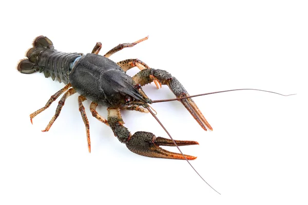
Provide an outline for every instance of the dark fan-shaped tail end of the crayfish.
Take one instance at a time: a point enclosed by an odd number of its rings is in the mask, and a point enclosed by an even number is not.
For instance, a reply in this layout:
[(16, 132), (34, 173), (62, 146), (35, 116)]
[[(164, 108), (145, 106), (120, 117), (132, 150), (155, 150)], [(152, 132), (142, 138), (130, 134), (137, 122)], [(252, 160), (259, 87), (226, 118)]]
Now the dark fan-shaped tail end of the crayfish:
[(17, 66), (17, 70), (21, 73), (34, 73), (40, 70), (37, 66), (40, 53), (45, 49), (53, 50), (53, 44), (51, 40), (45, 36), (37, 36), (33, 41), (33, 48), (30, 48), (26, 54), (28, 59), (23, 59)]

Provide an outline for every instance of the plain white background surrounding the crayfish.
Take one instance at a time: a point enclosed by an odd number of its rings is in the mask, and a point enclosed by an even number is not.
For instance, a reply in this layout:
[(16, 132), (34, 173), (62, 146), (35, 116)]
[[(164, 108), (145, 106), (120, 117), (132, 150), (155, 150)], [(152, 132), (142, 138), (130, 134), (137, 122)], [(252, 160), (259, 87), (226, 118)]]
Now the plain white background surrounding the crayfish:
[[(129, 2), (129, 3), (128, 3)], [(248, 3), (249, 2), (249, 3)], [(307, 204), (307, 65), (305, 1), (42, 1), (1, 6), (1, 204)], [(177, 101), (153, 105), (175, 139), (198, 156), (181, 160), (139, 156), (89, 112), (91, 148), (78, 111), (68, 98), (50, 131), (57, 103), (33, 119), (63, 84), (15, 67), (32, 40), (49, 37), (55, 49), (101, 54), (149, 35), (111, 59), (139, 58), (176, 76), (189, 94), (237, 88), (195, 98), (213, 127), (203, 131)], [(132, 69), (133, 75), (138, 69)], [(152, 99), (172, 98), (148, 85)], [(107, 117), (106, 108), (98, 112)], [(134, 133), (167, 137), (150, 114), (123, 111)], [(175, 149), (169, 149), (174, 150)]]

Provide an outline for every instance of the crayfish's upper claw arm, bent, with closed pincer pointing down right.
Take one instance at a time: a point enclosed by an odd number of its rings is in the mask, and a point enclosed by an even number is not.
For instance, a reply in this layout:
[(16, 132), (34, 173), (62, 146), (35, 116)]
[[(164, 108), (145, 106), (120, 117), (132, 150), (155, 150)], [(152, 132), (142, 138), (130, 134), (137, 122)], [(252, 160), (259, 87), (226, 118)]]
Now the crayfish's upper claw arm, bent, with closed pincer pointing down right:
[[(132, 77), (136, 84), (140, 84), (144, 86), (146, 84), (151, 83), (154, 79), (160, 81), (161, 84), (167, 85), (170, 90), (179, 97), (186, 97), (189, 96), (188, 92), (179, 82), (179, 80), (167, 71), (160, 70), (160, 69), (145, 69), (137, 73)], [(185, 106), (185, 108), (189, 111), (192, 117), (199, 123), (199, 125), (206, 131), (206, 127), (210, 130), (213, 130), (197, 105), (195, 104), (194, 100), (191, 98), (187, 99), (180, 99), (181, 103)]]

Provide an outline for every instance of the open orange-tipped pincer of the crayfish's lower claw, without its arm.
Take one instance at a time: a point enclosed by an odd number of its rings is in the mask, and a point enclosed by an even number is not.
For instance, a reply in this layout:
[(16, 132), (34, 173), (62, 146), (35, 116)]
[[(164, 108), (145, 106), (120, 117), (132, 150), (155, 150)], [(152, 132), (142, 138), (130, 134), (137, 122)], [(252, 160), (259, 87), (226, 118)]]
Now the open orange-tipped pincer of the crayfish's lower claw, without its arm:
[[(175, 140), (178, 146), (199, 145), (197, 141)], [(169, 152), (159, 146), (176, 146), (171, 139), (156, 137), (150, 132), (136, 132), (126, 142), (126, 147), (133, 153), (147, 156), (168, 159), (185, 159), (180, 153)], [(195, 156), (185, 154), (186, 159), (196, 159)]]

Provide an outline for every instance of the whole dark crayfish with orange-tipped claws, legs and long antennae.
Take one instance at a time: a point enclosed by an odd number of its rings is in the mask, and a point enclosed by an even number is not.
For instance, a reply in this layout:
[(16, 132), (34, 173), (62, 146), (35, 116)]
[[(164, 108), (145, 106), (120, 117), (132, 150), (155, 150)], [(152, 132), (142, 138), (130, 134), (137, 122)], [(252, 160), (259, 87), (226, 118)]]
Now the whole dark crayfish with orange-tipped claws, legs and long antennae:
[[(30, 48), (26, 54), (27, 59), (20, 61), (17, 66), (17, 70), (26, 74), (40, 71), (44, 73), (45, 77), (51, 76), (53, 80), (57, 79), (60, 83), (63, 81), (66, 86), (52, 95), (43, 108), (30, 114), (31, 123), (32, 119), (37, 114), (46, 110), (53, 101), (55, 101), (60, 95), (64, 93), (64, 95), (59, 100), (59, 105), (56, 108), (54, 116), (50, 120), (45, 130), (43, 130), (43, 132), (47, 132), (55, 119), (60, 115), (65, 100), (69, 96), (75, 93), (79, 93), (79, 111), (86, 127), (89, 152), (91, 152), (89, 122), (85, 113), (85, 108), (82, 104), (82, 102), (86, 99), (92, 100), (92, 103), (90, 104), (90, 111), (93, 117), (109, 126), (119, 141), (124, 143), (131, 152), (148, 157), (186, 159), (188, 163), (188, 160), (196, 159), (197, 157), (195, 156), (183, 154), (178, 146), (198, 145), (198, 142), (174, 140), (168, 131), (164, 128), (164, 126), (160, 123), (155, 114), (153, 114), (149, 106), (149, 104), (158, 103), (160, 101), (179, 100), (205, 131), (207, 128), (213, 130), (197, 105), (191, 99), (191, 97), (194, 96), (189, 96), (177, 78), (171, 76), (171, 74), (169, 74), (167, 71), (152, 69), (139, 59), (126, 59), (115, 63), (108, 58), (123, 48), (133, 47), (134, 45), (143, 42), (147, 38), (148, 37), (142, 38), (134, 43), (120, 44), (102, 56), (99, 55), (99, 52), (102, 48), (101, 43), (97, 43), (94, 46), (92, 52), (88, 54), (64, 53), (55, 50), (51, 40), (47, 37), (36, 37), (33, 42), (33, 48)], [(141, 71), (133, 77), (130, 77), (126, 74), (126, 71), (133, 67), (138, 67)], [(161, 87), (162, 85), (167, 85), (177, 98), (168, 100), (149, 99), (143, 92), (142, 86), (151, 82), (154, 82), (157, 88)], [(195, 96), (206, 94), (199, 94)], [(96, 111), (98, 105), (108, 107), (107, 119), (102, 117)], [(128, 129), (124, 127), (124, 121), (120, 112), (121, 110), (150, 112), (169, 135), (170, 139), (156, 137), (154, 134), (144, 131), (131, 134)], [(160, 146), (176, 146), (180, 153), (164, 150), (160, 148)]]

